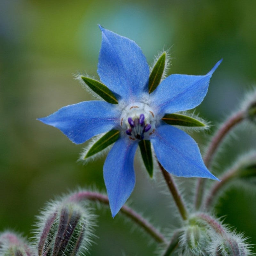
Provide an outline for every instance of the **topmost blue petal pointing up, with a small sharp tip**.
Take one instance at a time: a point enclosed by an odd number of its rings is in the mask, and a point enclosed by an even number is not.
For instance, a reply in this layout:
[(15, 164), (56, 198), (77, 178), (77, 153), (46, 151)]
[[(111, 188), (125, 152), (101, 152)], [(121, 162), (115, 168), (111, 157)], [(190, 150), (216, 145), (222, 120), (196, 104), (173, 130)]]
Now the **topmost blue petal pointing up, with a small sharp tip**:
[(99, 27), (102, 44), (97, 71), (101, 82), (123, 99), (138, 99), (149, 77), (144, 54), (134, 41)]

